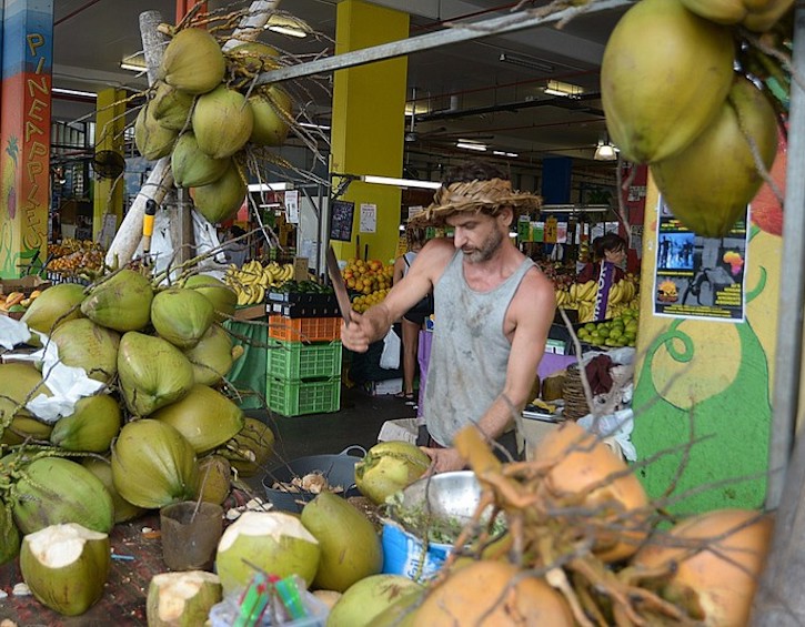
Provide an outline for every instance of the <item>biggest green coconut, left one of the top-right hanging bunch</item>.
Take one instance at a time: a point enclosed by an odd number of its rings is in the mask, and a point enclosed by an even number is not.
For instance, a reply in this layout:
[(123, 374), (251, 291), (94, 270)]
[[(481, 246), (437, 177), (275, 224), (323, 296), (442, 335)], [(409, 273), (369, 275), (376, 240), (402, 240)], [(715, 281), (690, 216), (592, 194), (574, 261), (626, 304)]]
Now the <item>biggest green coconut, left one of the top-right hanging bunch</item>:
[(642, 0), (610, 37), (601, 67), (606, 128), (628, 161), (680, 152), (718, 114), (733, 78), (728, 28), (678, 0)]

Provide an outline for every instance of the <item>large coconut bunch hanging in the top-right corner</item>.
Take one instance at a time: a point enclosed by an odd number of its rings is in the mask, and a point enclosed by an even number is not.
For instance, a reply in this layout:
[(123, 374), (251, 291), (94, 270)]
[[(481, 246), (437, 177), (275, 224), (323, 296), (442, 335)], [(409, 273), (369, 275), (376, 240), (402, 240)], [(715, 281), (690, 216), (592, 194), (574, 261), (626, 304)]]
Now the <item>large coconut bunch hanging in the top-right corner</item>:
[(767, 181), (789, 93), (793, 0), (641, 0), (601, 68), (607, 131), (673, 214), (725, 235)]

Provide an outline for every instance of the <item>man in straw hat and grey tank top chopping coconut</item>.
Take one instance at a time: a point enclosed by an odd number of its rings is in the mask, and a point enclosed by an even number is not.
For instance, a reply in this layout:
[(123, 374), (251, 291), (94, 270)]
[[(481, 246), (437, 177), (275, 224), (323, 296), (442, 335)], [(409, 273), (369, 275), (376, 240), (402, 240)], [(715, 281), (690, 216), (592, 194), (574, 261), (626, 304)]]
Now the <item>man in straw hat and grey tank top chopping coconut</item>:
[[(492, 439), (527, 403), (555, 310), (553, 284), (509, 237), (520, 209), (540, 199), (512, 191), (496, 168), (470, 163), (447, 174), (422, 221), (446, 224), (453, 240), (430, 241), (385, 300), (342, 326), (358, 352), (431, 290), (435, 332), (424, 417), (434, 472), (463, 467), (453, 436), (474, 423)], [(419, 218), (419, 216), (417, 216)]]

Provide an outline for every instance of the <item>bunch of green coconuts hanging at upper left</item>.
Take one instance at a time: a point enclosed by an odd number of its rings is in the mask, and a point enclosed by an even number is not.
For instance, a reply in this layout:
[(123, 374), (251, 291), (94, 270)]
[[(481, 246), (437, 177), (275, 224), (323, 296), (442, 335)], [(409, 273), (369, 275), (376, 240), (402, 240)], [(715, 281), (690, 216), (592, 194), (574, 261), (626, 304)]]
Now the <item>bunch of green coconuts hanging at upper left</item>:
[(177, 186), (213, 223), (243, 203), (248, 155), (282, 145), (295, 123), (290, 94), (256, 82), (282, 65), (279, 50), (242, 41), (224, 51), (232, 22), (195, 11), (160, 27), (171, 40), (134, 124), (138, 150), (150, 160), (170, 156)]

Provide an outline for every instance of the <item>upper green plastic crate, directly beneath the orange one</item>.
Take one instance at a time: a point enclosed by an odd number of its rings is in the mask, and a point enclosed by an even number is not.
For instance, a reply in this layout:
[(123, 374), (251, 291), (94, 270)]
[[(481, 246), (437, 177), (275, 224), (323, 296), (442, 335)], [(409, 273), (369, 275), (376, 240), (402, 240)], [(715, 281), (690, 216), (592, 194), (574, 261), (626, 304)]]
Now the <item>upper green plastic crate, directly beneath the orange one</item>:
[(341, 342), (321, 344), (276, 342), (268, 351), (270, 377), (288, 380), (331, 378), (341, 375)]

